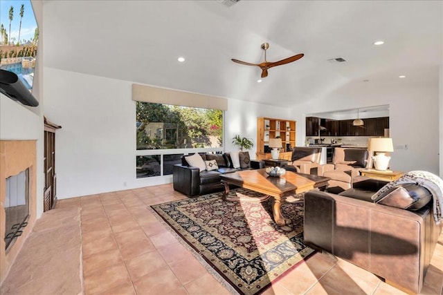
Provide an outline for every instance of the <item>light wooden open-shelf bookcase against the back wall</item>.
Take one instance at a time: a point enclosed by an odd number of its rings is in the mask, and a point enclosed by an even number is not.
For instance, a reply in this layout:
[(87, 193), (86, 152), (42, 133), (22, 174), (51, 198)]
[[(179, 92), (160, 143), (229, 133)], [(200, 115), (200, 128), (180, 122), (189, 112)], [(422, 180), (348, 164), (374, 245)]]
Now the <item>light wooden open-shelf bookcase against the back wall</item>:
[(273, 119), (269, 117), (257, 118), (256, 160), (271, 158), (269, 139), (276, 138), (278, 136), (280, 136), (282, 139), (280, 159), (291, 160), (292, 148), (293, 146), (296, 146), (296, 121)]

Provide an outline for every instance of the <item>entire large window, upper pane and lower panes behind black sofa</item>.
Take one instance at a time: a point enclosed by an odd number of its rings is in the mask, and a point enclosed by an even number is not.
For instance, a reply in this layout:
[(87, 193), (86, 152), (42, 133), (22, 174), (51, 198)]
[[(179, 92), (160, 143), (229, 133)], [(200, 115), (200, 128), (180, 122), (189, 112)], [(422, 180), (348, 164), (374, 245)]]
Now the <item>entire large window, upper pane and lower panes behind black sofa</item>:
[(182, 149), (221, 151), (223, 111), (136, 102), (136, 146), (137, 178), (172, 174)]

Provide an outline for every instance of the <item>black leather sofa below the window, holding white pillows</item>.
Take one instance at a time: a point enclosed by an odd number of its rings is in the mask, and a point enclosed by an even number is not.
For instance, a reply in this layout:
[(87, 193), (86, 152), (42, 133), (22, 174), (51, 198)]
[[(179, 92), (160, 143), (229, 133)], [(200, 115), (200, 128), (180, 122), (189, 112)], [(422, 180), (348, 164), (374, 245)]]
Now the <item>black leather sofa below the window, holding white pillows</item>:
[(181, 164), (175, 164), (172, 167), (172, 184), (175, 191), (180, 191), (190, 197), (223, 191), (224, 186), (221, 184), (220, 174), (233, 173), (245, 169), (264, 168), (263, 161), (250, 160), (248, 152), (240, 152), (239, 168), (233, 167), (233, 161), (230, 153), (224, 154), (200, 154), (203, 160), (215, 160), (218, 169), (200, 171), (197, 166), (190, 166), (186, 161), (186, 156), (181, 157)]

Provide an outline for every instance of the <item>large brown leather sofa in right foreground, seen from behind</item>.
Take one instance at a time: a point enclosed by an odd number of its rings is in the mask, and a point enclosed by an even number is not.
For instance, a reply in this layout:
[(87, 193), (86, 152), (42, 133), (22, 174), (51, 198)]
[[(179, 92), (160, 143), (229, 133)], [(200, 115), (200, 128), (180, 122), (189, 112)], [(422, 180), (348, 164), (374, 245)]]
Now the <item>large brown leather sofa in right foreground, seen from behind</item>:
[(401, 209), (371, 199), (386, 182), (357, 180), (352, 189), (338, 195), (322, 191), (305, 194), (305, 243), (406, 292), (419, 293), (442, 232), (442, 224), (436, 225), (433, 218), (433, 196), (415, 184), (407, 189), (421, 204)]

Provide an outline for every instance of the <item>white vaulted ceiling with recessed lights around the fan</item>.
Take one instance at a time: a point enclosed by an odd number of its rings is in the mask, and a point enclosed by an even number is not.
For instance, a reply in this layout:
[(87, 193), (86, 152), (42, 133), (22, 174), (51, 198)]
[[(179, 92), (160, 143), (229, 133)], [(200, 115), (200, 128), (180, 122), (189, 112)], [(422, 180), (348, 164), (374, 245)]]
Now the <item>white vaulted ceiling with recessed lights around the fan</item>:
[[(45, 66), (275, 106), (365, 79), (437, 80), (443, 59), (443, 1), (60, 0), (43, 15)], [(260, 68), (230, 59), (259, 63), (264, 42), (268, 61), (305, 57), (257, 83)]]

